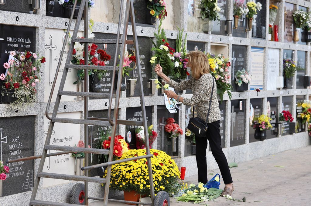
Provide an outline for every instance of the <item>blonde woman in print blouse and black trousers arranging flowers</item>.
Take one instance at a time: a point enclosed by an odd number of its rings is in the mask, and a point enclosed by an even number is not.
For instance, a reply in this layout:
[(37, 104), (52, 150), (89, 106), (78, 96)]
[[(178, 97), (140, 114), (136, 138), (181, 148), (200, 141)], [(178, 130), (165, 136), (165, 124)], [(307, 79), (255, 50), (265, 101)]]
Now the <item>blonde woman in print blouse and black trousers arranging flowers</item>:
[(191, 99), (183, 98), (175, 94), (173, 91), (165, 90), (165, 94), (169, 98), (174, 98), (184, 105), (197, 106), (197, 116), (203, 121), (207, 118), (208, 106), (211, 94), (211, 108), (209, 110), (210, 115), (207, 120), (208, 132), (205, 138), (196, 137), (196, 160), (198, 168), (199, 182), (207, 182), (207, 163), (206, 163), (206, 149), (207, 149), (207, 139), (211, 146), (212, 154), (219, 166), (221, 175), (225, 182), (225, 189), (222, 192), (222, 196), (231, 195), (234, 187), (232, 184), (232, 178), (230, 174), (230, 169), (228, 166), (225, 154), (220, 146), (220, 110), (217, 99), (216, 87), (212, 91), (213, 81), (215, 79), (210, 74), (209, 64), (207, 56), (202, 51), (190, 51), (187, 54), (188, 57), (188, 67), (191, 68), (191, 74), (193, 78), (177, 83), (171, 80), (162, 72), (162, 67), (157, 64), (155, 67), (155, 72), (158, 76), (162, 77), (166, 82), (169, 82), (176, 90), (186, 90), (191, 89), (193, 91), (193, 96)]

